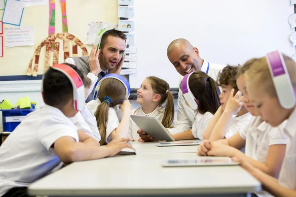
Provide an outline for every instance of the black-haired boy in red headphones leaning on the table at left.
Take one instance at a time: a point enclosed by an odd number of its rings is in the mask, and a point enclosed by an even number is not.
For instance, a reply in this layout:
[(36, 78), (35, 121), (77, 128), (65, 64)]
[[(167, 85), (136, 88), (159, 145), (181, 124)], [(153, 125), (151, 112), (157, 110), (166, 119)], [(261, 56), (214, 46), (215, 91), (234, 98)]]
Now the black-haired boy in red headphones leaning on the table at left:
[(71, 65), (54, 65), (43, 74), (44, 107), (30, 113), (0, 146), (0, 196), (26, 196), (29, 184), (61, 162), (99, 159), (132, 148), (126, 143), (130, 138), (101, 147), (71, 122), (84, 104), (81, 79), (81, 72)]

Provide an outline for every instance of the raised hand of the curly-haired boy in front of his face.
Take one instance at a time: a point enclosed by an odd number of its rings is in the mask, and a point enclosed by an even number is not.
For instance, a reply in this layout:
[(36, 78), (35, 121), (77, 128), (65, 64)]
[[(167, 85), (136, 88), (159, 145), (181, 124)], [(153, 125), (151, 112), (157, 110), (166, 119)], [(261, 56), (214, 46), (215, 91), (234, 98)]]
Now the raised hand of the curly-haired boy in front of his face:
[(241, 96), (242, 93), (238, 91), (235, 96), (233, 97), (234, 89), (231, 90), (230, 97), (226, 103), (225, 110), (229, 113), (236, 114), (239, 112), (241, 107), (243, 106), (243, 97)]

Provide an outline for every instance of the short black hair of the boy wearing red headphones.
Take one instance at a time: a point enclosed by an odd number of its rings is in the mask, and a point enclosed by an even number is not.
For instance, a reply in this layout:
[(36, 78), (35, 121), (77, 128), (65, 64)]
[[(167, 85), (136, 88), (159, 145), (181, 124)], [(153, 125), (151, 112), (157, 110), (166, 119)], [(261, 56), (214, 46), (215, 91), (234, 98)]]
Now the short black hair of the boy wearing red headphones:
[[(72, 67), (84, 80), (82, 72), (74, 65), (65, 65)], [(62, 108), (73, 98), (73, 86), (68, 77), (61, 71), (49, 67), (43, 74), (43, 98), (44, 103), (56, 108)]]

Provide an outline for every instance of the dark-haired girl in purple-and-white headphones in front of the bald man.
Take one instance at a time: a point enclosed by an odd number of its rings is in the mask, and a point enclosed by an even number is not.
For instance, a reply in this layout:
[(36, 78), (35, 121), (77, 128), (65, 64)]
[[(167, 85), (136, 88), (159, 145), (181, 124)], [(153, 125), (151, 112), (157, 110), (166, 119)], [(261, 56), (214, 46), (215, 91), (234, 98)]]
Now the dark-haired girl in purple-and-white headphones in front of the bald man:
[(202, 138), (211, 118), (218, 110), (220, 90), (217, 82), (202, 71), (185, 75), (181, 87), (185, 103), (194, 112), (192, 129), (173, 134), (175, 140)]

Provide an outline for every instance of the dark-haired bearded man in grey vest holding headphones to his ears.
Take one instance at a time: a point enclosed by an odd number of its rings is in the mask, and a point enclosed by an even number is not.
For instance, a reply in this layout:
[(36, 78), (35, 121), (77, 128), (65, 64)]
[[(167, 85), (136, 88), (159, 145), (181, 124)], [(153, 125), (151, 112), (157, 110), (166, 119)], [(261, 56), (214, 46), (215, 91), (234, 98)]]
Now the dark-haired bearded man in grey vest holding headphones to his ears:
[(100, 50), (94, 46), (89, 56), (67, 58), (65, 63), (77, 66), (92, 80), (86, 102), (93, 99), (95, 84), (108, 73), (119, 74), (123, 65), (126, 35), (118, 30), (109, 30), (102, 35)]

